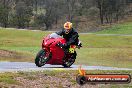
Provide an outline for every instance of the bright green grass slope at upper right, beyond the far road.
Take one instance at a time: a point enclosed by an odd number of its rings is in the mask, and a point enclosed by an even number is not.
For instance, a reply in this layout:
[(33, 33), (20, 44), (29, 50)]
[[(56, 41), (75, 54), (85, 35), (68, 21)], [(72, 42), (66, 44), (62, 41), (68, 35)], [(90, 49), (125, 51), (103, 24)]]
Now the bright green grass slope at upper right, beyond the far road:
[(97, 33), (101, 34), (132, 34), (132, 22), (116, 24)]

